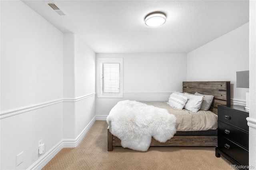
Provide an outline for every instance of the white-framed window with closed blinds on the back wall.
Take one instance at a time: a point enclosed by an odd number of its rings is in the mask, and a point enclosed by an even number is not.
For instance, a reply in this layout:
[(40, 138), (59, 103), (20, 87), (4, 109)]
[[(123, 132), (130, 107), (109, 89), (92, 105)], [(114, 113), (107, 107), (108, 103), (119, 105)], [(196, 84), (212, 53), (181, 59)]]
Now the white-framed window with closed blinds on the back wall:
[(123, 97), (122, 58), (98, 58), (98, 97)]

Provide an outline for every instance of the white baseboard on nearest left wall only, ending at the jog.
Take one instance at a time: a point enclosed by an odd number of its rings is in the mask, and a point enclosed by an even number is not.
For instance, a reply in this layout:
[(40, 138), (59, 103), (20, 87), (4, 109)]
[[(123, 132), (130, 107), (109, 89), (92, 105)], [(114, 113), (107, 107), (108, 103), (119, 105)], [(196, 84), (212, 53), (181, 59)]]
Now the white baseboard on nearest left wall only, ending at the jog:
[(60, 150), (63, 148), (63, 141), (60, 140), (53, 148), (43, 154), (34, 164), (27, 170), (40, 170), (42, 169)]

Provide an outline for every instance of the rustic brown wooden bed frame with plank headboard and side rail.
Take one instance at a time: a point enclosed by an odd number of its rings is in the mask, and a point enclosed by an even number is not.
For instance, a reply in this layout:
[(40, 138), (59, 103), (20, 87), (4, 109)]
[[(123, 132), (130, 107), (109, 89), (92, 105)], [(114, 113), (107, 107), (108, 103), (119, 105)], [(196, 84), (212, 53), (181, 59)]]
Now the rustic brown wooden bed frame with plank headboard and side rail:
[[(230, 81), (184, 81), (183, 92), (213, 95), (210, 111), (218, 115), (218, 105), (230, 105)], [(108, 127), (108, 151), (113, 146), (121, 146), (121, 140), (112, 135)], [(174, 136), (166, 142), (158, 142), (152, 137), (150, 146), (217, 146), (218, 136)]]

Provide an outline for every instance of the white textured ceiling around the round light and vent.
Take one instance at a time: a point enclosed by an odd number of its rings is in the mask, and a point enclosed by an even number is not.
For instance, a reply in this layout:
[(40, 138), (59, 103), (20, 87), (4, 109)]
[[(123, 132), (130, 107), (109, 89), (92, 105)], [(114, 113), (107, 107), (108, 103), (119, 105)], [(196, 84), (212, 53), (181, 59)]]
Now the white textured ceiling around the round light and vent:
[[(56, 0), (68, 16), (58, 16), (49, 1), (23, 2), (96, 53), (188, 53), (249, 22), (248, 0)], [(156, 11), (166, 23), (149, 28), (144, 18)]]

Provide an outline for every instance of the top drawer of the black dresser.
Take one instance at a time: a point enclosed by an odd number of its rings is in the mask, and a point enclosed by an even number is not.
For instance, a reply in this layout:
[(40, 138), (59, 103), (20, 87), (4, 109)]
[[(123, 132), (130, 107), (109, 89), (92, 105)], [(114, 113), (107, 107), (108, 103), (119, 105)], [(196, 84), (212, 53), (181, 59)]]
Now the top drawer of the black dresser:
[(218, 109), (218, 121), (222, 121), (224, 123), (228, 123), (230, 125), (234, 125), (238, 128), (242, 128), (246, 131), (249, 131), (246, 117), (248, 116), (236, 113), (234, 111), (229, 111), (221, 108)]

